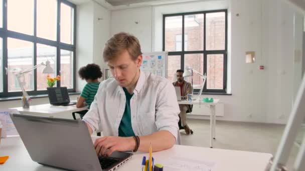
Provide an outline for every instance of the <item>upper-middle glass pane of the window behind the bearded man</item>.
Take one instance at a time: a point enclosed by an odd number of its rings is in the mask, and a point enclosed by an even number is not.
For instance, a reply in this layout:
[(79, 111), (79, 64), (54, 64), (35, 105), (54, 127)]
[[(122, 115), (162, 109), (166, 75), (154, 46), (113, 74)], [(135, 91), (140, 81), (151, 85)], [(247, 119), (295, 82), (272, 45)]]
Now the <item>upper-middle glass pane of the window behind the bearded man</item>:
[(184, 50), (203, 50), (204, 14), (184, 16)]

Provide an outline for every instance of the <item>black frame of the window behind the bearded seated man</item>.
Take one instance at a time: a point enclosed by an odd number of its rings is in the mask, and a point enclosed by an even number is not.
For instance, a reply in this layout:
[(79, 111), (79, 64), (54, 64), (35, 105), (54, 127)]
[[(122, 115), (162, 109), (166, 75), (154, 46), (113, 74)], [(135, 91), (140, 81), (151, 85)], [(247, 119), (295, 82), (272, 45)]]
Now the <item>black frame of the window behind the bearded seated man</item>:
[[(206, 14), (213, 12), (225, 12), (225, 49), (224, 50), (206, 50)], [(203, 50), (188, 50), (184, 51), (184, 29), (185, 29), (185, 15), (190, 14), (204, 14), (204, 47)], [(207, 89), (207, 83), (204, 85), (203, 93), (227, 93), (227, 51), (228, 51), (228, 10), (219, 9), (219, 10), (205, 10), (205, 11), (196, 11), (196, 12), (183, 12), (183, 13), (172, 13), (172, 14), (163, 14), (163, 51), (165, 51), (165, 19), (169, 16), (182, 16), (182, 51), (169, 51), (168, 55), (180, 55), (181, 56), (181, 69), (184, 69), (184, 56), (185, 54), (203, 54), (203, 73), (207, 73), (207, 56), (209, 54), (223, 54), (223, 89)], [(194, 93), (199, 93), (199, 88), (194, 89)]]

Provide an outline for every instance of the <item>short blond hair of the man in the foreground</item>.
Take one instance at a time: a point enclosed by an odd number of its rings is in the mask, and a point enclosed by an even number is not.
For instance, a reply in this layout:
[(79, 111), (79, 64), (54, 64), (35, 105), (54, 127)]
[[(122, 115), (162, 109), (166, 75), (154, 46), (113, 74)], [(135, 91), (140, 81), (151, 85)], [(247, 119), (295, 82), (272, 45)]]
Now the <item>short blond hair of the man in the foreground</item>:
[(126, 32), (114, 34), (106, 43), (103, 51), (104, 61), (118, 57), (127, 50), (132, 60), (136, 60), (142, 54), (139, 40)]

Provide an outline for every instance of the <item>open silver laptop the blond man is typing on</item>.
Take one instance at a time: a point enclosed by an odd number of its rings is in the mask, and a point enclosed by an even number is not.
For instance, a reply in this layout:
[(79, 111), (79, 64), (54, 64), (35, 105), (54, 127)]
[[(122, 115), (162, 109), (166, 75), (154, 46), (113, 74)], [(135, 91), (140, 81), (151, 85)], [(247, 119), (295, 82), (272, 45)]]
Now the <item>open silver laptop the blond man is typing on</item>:
[(88, 128), (82, 120), (11, 114), (31, 158), (40, 164), (68, 170), (115, 170), (132, 153), (96, 155)]

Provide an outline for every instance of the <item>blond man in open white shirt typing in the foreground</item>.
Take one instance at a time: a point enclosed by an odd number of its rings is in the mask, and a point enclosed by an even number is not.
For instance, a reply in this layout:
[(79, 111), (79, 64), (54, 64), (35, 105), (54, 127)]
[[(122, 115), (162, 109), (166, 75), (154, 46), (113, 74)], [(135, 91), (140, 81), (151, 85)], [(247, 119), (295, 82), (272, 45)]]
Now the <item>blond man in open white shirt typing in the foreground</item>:
[(179, 105), (168, 79), (145, 74), (139, 41), (120, 32), (105, 44), (104, 61), (113, 79), (100, 83), (90, 110), (83, 120), (90, 134), (103, 131), (95, 150), (98, 155), (113, 151), (147, 152), (171, 148), (178, 137)]

